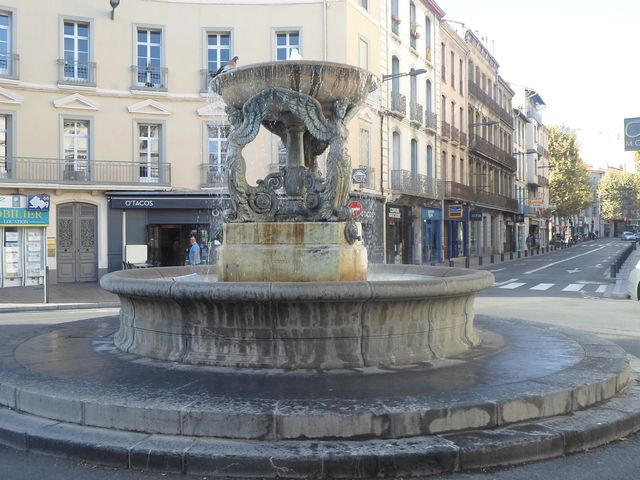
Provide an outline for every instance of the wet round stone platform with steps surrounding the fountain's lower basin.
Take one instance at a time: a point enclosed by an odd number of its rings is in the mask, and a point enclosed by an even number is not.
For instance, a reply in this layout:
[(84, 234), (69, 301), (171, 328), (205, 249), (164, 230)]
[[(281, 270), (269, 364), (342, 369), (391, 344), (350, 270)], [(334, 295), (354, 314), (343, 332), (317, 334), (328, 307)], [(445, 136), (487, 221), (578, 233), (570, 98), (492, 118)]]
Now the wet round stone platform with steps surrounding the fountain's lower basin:
[(484, 346), (466, 355), (326, 375), (122, 354), (114, 317), (2, 327), (0, 441), (214, 477), (370, 478), (549, 458), (640, 428), (636, 361), (619, 347), (477, 320)]

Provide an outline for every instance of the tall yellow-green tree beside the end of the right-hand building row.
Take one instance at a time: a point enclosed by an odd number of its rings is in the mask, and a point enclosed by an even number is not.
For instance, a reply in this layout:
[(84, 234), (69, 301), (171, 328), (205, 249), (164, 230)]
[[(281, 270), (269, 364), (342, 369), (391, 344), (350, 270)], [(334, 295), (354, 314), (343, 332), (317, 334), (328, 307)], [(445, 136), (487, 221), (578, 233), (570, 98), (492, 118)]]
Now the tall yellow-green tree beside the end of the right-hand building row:
[(549, 195), (559, 216), (577, 215), (592, 203), (589, 171), (580, 158), (576, 133), (570, 128), (549, 128), (549, 167)]

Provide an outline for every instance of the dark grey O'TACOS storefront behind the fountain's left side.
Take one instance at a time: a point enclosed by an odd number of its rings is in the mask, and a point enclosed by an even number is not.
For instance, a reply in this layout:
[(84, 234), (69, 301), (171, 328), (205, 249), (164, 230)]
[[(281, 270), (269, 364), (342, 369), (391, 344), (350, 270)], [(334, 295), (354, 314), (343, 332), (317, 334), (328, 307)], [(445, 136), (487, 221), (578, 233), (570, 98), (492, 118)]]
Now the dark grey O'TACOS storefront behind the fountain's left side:
[(228, 197), (201, 193), (109, 192), (109, 271), (120, 270), (131, 262), (127, 246), (146, 245), (142, 263), (152, 266), (184, 265), (191, 236), (201, 248), (205, 263), (215, 263), (222, 241)]

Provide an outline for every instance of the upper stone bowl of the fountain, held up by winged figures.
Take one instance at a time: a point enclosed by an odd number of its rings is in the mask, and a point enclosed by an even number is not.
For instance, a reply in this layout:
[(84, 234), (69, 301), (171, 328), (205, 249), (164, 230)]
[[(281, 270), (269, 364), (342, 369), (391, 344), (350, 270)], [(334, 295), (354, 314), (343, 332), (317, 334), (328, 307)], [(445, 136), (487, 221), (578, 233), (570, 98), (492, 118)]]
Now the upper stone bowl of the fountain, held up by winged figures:
[(352, 65), (317, 61), (256, 63), (218, 75), (211, 82), (227, 105), (242, 108), (255, 94), (271, 87), (309, 95), (322, 105), (345, 98), (359, 105), (379, 86), (371, 72)]

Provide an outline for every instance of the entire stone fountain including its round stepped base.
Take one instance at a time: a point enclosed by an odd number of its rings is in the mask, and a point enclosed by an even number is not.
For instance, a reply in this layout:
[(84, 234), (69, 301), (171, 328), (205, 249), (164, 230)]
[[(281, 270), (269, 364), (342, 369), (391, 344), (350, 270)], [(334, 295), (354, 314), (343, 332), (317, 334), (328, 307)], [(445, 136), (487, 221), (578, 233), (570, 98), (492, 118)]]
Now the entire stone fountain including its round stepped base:
[[(234, 208), (218, 265), (104, 276), (119, 318), (0, 326), (0, 443), (214, 478), (366, 479), (640, 429), (621, 348), (513, 319), (476, 329), (488, 272), (367, 265), (345, 206), (346, 125), (376, 86), (322, 62), (219, 75)], [(261, 126), (287, 165), (249, 185), (242, 150)]]

